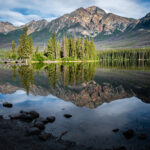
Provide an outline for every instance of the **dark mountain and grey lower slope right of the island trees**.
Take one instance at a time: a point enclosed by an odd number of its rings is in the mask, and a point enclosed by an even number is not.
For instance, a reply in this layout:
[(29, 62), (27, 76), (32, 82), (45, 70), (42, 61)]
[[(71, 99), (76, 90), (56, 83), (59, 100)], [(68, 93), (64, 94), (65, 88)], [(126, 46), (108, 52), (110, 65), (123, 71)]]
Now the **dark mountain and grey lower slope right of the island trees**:
[(139, 48), (150, 46), (150, 13), (127, 26), (122, 33), (102, 35), (96, 39), (97, 49)]

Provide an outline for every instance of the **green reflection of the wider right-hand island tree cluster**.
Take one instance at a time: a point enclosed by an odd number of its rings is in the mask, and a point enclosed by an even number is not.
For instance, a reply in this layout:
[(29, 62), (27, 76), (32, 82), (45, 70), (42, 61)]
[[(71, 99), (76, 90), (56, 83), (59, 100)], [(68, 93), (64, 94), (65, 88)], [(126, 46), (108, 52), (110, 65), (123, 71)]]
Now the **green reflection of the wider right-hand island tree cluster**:
[[(76, 85), (93, 80), (96, 65), (93, 63), (58, 65), (50, 64), (45, 68), (50, 84), (56, 88), (57, 80), (62, 79), (64, 86)], [(60, 73), (61, 71), (61, 73)]]

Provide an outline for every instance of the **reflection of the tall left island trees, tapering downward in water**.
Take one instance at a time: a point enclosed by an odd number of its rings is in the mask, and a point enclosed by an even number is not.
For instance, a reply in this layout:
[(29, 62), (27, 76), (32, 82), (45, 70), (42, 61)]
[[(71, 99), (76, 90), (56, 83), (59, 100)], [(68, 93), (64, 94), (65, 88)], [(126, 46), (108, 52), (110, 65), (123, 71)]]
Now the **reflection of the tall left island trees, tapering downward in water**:
[(20, 66), (18, 73), (21, 79), (22, 87), (26, 89), (27, 94), (29, 94), (30, 86), (34, 82), (34, 70), (32, 65)]

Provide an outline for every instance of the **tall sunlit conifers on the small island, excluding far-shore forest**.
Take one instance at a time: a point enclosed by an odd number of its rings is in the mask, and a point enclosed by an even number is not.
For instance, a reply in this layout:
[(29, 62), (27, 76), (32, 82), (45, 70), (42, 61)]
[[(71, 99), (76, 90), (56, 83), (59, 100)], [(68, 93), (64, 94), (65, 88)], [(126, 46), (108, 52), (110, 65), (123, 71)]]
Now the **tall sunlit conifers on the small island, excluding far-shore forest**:
[[(39, 46), (34, 48), (31, 36), (27, 35), (27, 27), (24, 28), (24, 34), (20, 36), (19, 45), (16, 48), (15, 41), (11, 45), (11, 57), (21, 59), (39, 59), (39, 60), (81, 60), (96, 59), (96, 49), (93, 39), (63, 36), (61, 41), (56, 39), (55, 33), (48, 40), (44, 52), (39, 51)], [(35, 50), (34, 50), (35, 49)]]

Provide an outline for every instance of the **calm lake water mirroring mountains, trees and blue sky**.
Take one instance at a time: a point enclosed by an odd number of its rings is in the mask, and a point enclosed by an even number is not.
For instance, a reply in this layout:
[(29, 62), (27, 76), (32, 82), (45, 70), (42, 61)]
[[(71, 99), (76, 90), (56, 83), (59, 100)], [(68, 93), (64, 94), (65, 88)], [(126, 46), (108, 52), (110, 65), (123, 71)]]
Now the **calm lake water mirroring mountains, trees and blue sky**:
[[(11, 102), (11, 109), (3, 102)], [(56, 121), (45, 131), (94, 148), (150, 147), (150, 65), (82, 63), (0, 65), (0, 115), (36, 110)], [(64, 118), (64, 114), (72, 118)], [(118, 133), (112, 132), (119, 128)], [(126, 140), (123, 132), (133, 129)], [(137, 137), (144, 133), (146, 140)]]

